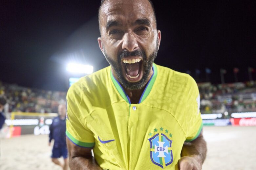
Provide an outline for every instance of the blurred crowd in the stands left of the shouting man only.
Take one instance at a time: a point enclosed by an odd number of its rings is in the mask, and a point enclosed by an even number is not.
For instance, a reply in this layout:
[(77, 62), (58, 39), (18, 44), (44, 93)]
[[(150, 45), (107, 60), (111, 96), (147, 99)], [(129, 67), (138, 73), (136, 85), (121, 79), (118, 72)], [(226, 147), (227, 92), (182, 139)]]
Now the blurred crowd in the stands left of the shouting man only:
[(65, 103), (66, 92), (54, 92), (21, 87), (0, 81), (0, 95), (7, 99), (4, 112), (57, 113), (58, 105)]

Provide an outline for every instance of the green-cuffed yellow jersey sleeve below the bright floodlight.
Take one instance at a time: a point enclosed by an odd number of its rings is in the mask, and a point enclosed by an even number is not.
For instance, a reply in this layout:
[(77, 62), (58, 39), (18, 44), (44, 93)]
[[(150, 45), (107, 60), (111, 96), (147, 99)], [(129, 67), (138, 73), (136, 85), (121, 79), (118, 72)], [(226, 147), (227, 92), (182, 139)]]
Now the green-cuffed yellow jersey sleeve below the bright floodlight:
[[(72, 87), (73, 86), (73, 87)], [(92, 148), (95, 144), (93, 132), (86, 126), (85, 116), (88, 115), (86, 106), (81, 105), (83, 97), (79, 88), (73, 84), (67, 93), (66, 136), (75, 145)]]

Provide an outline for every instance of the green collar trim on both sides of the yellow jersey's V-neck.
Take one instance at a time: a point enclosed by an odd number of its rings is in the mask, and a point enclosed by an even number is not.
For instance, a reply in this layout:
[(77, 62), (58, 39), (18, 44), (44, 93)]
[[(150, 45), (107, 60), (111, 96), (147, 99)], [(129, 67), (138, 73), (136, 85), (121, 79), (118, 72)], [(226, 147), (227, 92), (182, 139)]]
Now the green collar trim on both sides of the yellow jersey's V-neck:
[[(111, 76), (111, 80), (112, 82), (114, 83), (118, 93), (121, 95), (121, 97), (129, 104), (131, 104), (131, 101), (130, 101), (130, 98), (128, 97), (128, 95), (125, 93), (123, 87), (120, 85), (120, 83), (117, 81), (117, 79), (113, 76), (113, 73), (112, 71), (110, 71), (110, 76)], [(144, 89), (140, 99), (139, 99), (139, 103), (143, 102), (146, 97), (148, 96), (148, 94), (150, 93), (153, 85), (154, 85), (154, 82), (157, 78), (157, 66), (155, 63), (153, 63), (153, 75), (150, 77), (147, 85), (146, 85), (146, 88)]]

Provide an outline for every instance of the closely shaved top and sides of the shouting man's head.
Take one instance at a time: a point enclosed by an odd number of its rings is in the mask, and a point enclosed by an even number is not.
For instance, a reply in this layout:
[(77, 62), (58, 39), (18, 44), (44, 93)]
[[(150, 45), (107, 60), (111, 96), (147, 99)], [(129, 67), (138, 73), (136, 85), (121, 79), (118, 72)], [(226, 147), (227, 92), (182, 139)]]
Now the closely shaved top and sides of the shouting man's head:
[[(110, 2), (110, 4), (107, 4), (105, 6), (105, 4), (107, 2)], [(121, 4), (123, 4), (123, 6), (121, 6)], [(132, 7), (133, 9), (137, 9), (138, 12), (139, 10), (141, 11), (145, 11), (145, 10), (149, 10), (151, 12), (151, 14), (153, 14), (153, 20), (155, 22), (155, 28), (157, 29), (157, 20), (156, 20), (156, 14), (155, 14), (155, 10), (154, 10), (154, 6), (151, 0), (101, 0), (101, 4), (98, 10), (98, 22), (99, 22), (99, 31), (101, 34), (101, 22), (102, 22), (102, 12), (107, 12), (109, 10), (109, 7), (113, 7), (114, 6), (120, 6), (120, 8), (122, 7)]]

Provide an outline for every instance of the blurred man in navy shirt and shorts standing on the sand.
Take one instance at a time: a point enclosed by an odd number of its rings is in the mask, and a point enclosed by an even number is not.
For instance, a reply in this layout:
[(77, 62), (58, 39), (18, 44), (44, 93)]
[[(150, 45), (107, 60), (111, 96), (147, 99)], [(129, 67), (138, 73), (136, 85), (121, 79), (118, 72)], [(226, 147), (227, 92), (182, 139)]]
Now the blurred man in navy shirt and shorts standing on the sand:
[[(54, 139), (53, 150), (52, 150), (52, 161), (56, 165), (59, 165), (63, 170), (68, 170), (68, 150), (66, 144), (66, 105), (61, 104), (58, 106), (59, 116), (53, 119), (53, 123), (50, 126), (49, 134), (49, 146), (51, 141)], [(60, 163), (58, 158), (63, 157), (64, 164)]]

